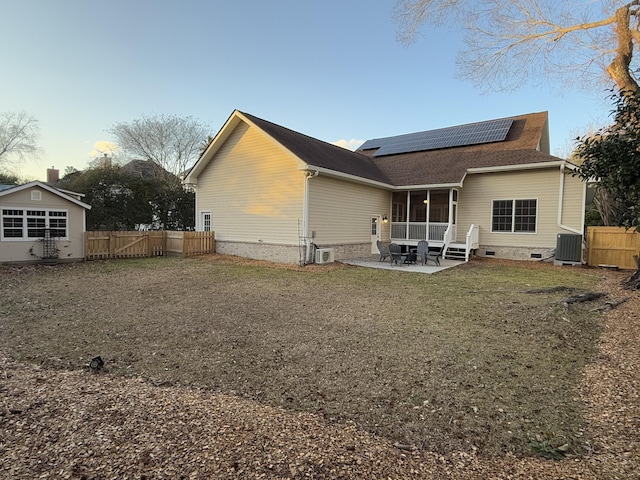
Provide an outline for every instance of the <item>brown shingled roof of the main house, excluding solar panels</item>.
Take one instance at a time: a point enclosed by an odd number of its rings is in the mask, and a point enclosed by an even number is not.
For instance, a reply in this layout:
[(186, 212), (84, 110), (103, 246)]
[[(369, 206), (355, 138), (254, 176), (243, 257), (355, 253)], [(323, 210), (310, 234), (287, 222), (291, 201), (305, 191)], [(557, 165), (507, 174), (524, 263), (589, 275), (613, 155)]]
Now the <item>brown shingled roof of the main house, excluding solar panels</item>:
[[(526, 169), (552, 166), (565, 161), (549, 154), (547, 112), (530, 113), (506, 119), (497, 119), (460, 127), (449, 127), (418, 134), (398, 135), (365, 142), (357, 151), (317, 140), (248, 113), (234, 110), (207, 150), (191, 169), (185, 183), (195, 183), (198, 175), (215, 156), (215, 152), (235, 127), (245, 122), (261, 130), (270, 139), (307, 165), (307, 169), (320, 169), (323, 174), (356, 177), (389, 188), (411, 186), (455, 186), (469, 172), (483, 169)], [(477, 136), (467, 143), (446, 143), (445, 147), (421, 149), (396, 148), (398, 143), (437, 137), (438, 132), (470, 132), (475, 125), (496, 126), (498, 134), (480, 143)], [(487, 127), (488, 128), (488, 127)], [(435, 133), (434, 133), (435, 132)], [(420, 140), (421, 141), (421, 140)], [(394, 148), (384, 148), (389, 143)], [(419, 144), (421, 145), (421, 144)], [(438, 144), (441, 145), (441, 144)], [(451, 146), (452, 145), (452, 146)], [(391, 153), (389, 153), (391, 152)], [(398, 153), (402, 152), (402, 153)]]

